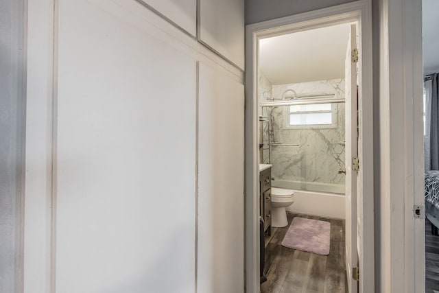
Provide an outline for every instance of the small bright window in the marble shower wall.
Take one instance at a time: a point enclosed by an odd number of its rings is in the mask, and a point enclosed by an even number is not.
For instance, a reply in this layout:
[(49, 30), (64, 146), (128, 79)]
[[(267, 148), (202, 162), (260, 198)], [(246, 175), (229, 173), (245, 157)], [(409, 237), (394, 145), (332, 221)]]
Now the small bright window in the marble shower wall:
[(289, 106), (287, 126), (335, 126), (332, 104)]

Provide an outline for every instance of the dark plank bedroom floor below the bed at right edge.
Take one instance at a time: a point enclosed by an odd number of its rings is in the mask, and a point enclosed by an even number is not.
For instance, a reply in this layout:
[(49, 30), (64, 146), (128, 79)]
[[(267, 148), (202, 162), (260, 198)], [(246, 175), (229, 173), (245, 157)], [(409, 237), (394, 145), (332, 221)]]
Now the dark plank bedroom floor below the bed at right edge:
[(439, 236), (431, 234), (431, 223), (425, 220), (425, 293), (439, 291)]

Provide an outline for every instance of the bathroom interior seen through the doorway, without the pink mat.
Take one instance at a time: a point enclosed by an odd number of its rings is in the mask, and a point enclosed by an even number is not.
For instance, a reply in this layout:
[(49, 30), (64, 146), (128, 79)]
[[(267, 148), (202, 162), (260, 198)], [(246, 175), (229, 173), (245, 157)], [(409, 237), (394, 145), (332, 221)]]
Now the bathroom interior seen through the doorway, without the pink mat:
[[(344, 23), (259, 41), (261, 292), (348, 292), (345, 58), (350, 27)], [(331, 223), (329, 255), (283, 247), (296, 217)]]

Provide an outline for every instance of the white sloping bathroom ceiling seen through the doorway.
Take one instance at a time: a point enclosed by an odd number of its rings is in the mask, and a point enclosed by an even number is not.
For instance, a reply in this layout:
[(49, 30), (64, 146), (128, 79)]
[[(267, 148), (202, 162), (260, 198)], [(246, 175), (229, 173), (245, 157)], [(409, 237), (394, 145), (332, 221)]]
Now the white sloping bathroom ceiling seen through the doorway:
[(349, 24), (265, 38), (259, 69), (272, 84), (344, 78)]

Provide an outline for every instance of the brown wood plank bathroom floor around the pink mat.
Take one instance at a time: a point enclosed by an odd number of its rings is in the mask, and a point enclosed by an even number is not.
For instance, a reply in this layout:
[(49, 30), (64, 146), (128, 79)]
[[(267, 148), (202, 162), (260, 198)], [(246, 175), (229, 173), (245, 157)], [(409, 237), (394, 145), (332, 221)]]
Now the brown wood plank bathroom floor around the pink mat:
[[(281, 246), (294, 217), (331, 222), (329, 255), (305, 253)], [(261, 293), (345, 293), (347, 292), (344, 264), (344, 221), (329, 220), (309, 215), (287, 213), (288, 225), (272, 231), (265, 246), (265, 275)], [(266, 236), (267, 237), (267, 236)]]

